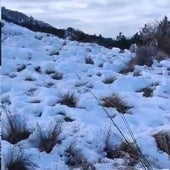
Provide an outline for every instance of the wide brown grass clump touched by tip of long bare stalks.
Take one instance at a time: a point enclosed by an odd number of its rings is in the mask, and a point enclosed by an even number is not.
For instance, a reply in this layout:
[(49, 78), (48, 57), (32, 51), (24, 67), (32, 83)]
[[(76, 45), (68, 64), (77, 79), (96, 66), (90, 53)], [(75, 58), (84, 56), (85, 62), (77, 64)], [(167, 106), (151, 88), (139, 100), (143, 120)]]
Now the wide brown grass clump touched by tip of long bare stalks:
[(120, 113), (126, 113), (130, 106), (127, 105), (117, 94), (112, 94), (111, 96), (104, 97), (101, 99), (101, 105), (104, 107), (113, 107)]

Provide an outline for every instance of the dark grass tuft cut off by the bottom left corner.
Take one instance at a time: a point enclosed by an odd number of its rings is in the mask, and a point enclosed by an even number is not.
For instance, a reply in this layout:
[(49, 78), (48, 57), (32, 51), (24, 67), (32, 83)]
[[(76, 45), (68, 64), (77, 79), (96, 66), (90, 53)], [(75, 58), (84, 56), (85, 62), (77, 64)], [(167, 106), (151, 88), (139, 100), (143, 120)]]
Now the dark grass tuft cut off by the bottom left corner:
[(34, 170), (35, 164), (30, 160), (30, 156), (21, 150), (10, 148), (4, 155), (2, 162), (7, 170)]

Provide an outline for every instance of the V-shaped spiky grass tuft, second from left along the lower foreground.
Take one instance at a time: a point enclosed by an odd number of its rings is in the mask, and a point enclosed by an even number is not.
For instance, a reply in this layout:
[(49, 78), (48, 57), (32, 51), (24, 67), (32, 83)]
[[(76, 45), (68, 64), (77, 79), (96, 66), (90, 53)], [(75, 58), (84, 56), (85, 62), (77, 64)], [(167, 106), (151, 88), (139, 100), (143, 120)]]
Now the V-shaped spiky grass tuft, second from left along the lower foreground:
[(36, 135), (37, 135), (37, 147), (40, 152), (45, 151), (50, 153), (53, 147), (59, 143), (58, 136), (61, 133), (61, 122), (56, 122), (53, 126), (49, 127), (48, 131), (42, 130), (42, 128), (37, 125)]

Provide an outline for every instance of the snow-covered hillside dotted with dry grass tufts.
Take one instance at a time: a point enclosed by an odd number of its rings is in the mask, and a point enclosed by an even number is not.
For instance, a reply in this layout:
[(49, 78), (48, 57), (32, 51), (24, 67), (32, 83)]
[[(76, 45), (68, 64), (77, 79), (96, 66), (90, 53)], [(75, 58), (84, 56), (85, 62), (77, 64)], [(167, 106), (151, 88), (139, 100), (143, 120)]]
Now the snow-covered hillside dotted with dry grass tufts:
[[(155, 60), (152, 67), (135, 66), (134, 72), (121, 74), (134, 57), (128, 50), (122, 53), (3, 23), (3, 170), (21, 152), (36, 170), (142, 168), (135, 151), (122, 147), (125, 139), (110, 118), (133, 142), (128, 122), (151, 169), (170, 167), (170, 60)], [(102, 106), (112, 94), (128, 106), (122, 113), (115, 106)], [(24, 140), (8, 137), (10, 120), (18, 127), (26, 124), (29, 135)], [(45, 150), (40, 139), (50, 133), (56, 138)]]

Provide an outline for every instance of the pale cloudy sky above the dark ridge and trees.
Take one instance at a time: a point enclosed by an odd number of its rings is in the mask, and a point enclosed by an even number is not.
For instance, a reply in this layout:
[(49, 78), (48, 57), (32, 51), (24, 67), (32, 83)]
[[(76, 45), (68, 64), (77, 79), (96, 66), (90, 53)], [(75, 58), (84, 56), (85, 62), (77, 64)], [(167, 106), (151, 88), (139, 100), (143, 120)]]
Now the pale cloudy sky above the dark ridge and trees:
[(170, 18), (170, 0), (2, 0), (6, 8), (24, 12), (57, 28), (74, 27), (115, 38), (133, 35), (145, 23)]

